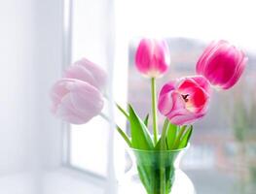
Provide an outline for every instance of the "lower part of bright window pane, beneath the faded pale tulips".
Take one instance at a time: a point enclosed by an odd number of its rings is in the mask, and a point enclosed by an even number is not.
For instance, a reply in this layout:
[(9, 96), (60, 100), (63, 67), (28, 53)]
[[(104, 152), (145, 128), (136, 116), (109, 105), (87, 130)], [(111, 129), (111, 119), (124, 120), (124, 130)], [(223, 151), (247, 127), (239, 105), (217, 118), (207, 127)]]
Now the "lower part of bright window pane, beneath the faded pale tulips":
[(71, 164), (82, 170), (106, 175), (108, 123), (100, 117), (85, 125), (72, 125)]

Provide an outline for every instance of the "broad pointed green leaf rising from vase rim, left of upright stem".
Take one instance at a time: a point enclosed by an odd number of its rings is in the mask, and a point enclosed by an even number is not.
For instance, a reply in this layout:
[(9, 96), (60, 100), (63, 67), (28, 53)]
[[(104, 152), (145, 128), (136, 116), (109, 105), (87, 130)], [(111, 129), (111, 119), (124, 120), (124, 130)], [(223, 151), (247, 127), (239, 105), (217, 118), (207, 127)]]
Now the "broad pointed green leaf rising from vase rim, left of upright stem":
[(134, 112), (132, 107), (128, 106), (129, 124), (131, 135), (131, 146), (133, 148), (152, 150), (154, 148), (148, 128), (144, 122)]

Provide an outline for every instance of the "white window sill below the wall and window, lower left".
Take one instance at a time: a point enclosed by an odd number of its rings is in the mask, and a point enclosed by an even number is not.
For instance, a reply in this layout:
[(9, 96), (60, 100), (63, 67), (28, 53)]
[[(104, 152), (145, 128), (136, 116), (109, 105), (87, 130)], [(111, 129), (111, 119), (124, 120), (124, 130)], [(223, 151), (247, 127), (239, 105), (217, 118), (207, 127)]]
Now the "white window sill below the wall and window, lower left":
[(0, 193), (8, 194), (103, 194), (104, 182), (61, 167), (44, 174), (0, 176)]

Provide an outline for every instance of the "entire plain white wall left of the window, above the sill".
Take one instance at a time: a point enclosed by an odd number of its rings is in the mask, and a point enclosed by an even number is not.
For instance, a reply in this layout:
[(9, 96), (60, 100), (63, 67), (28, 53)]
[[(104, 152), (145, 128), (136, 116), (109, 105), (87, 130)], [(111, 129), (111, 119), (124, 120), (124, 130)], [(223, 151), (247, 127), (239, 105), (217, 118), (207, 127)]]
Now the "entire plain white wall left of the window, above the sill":
[(0, 26), (0, 193), (11, 193), (2, 178), (60, 163), (49, 89), (61, 71), (61, 0), (0, 1)]

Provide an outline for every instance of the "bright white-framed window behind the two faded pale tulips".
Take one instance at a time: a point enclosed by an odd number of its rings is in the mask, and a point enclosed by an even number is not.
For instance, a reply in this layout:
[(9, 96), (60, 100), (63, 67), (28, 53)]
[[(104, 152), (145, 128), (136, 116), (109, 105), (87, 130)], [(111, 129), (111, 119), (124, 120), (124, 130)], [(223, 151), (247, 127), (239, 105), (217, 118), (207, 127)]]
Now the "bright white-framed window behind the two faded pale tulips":
[[(112, 24), (114, 13), (109, 13), (109, 11), (113, 5), (109, 2), (102, 3), (99, 0), (67, 0), (67, 2), (69, 2), (66, 11), (69, 13), (69, 16), (66, 16), (69, 20), (67, 30), (69, 43), (66, 44), (66, 47), (69, 49), (67, 55), (70, 56), (70, 59), (66, 63), (70, 64), (71, 61), (74, 62), (82, 57), (87, 57), (107, 71), (109, 85), (104, 92), (106, 97), (103, 113), (112, 118), (114, 115), (113, 99), (120, 98), (118, 93), (126, 96), (127, 92), (126, 87), (114, 87), (114, 91), (112, 89), (114, 77), (112, 78), (111, 75), (114, 71), (115, 60), (112, 31), (115, 30)], [(126, 84), (126, 77), (121, 76), (120, 81)], [(125, 91), (122, 92), (122, 89)], [(115, 92), (115, 90), (119, 92)], [(115, 94), (114, 97), (113, 94)], [(127, 102), (123, 95), (121, 97), (121, 100), (118, 100), (121, 104)], [(119, 120), (125, 125), (122, 119)], [(114, 138), (115, 126), (113, 123), (106, 121), (101, 116), (96, 116), (84, 125), (70, 125), (64, 128), (64, 164), (89, 175), (91, 178), (101, 180), (107, 178), (109, 182), (112, 179), (115, 181), (115, 176), (118, 176), (119, 172), (122, 171), (117, 170), (119, 169), (117, 168), (118, 165), (113, 168), (114, 157), (118, 155), (115, 158), (119, 162), (116, 163), (124, 169), (122, 158), (125, 157), (125, 153), (123, 145), (120, 146), (120, 141)], [(113, 148), (114, 144), (119, 146)]]

